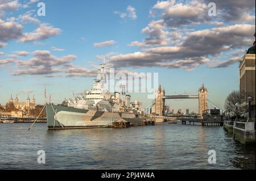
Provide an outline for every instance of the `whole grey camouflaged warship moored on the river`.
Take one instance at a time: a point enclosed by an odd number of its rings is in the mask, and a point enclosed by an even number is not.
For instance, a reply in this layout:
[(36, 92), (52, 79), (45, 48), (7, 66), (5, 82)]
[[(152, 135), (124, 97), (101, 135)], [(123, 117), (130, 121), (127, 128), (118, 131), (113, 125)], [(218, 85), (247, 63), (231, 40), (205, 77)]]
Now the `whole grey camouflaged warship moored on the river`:
[(113, 127), (114, 123), (143, 125), (145, 117), (140, 102), (131, 102), (125, 91), (122, 94), (108, 91), (105, 65), (105, 61), (100, 65), (89, 91), (74, 94), (72, 99), (65, 99), (65, 104), (46, 103), (48, 129)]

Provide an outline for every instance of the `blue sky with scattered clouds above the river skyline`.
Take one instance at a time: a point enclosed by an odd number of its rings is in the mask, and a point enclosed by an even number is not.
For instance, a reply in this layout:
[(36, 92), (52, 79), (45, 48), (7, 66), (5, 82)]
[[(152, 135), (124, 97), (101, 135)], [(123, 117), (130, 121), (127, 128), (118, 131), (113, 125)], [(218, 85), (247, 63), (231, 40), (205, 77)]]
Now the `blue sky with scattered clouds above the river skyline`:
[[(166, 94), (197, 94), (203, 83), (220, 107), (238, 90), (238, 60), (254, 41), (255, 2), (0, 0), (0, 103), (44, 86), (55, 103), (92, 87), (92, 65), (106, 57), (117, 70), (159, 73)], [(133, 99), (150, 103), (143, 93)], [(168, 100), (197, 111), (196, 100)]]

